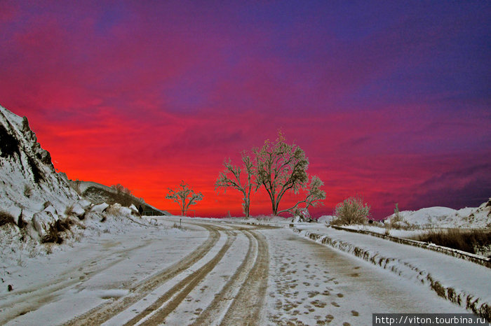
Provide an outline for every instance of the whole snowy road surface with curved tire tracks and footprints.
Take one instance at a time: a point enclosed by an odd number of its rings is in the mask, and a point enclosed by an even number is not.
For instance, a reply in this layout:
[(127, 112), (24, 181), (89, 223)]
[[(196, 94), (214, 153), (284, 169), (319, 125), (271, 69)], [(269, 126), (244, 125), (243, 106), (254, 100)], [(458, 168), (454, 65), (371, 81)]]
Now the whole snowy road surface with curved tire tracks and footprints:
[(466, 312), (290, 229), (165, 227), (174, 222), (25, 262), (0, 299), (0, 324), (371, 325), (372, 313)]

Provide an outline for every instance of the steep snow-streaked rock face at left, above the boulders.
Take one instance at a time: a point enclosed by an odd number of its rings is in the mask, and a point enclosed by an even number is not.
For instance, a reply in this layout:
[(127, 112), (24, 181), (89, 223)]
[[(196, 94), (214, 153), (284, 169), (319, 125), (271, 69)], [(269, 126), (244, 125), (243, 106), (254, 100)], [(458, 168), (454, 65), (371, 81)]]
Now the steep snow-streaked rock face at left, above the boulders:
[(15, 222), (22, 217), (29, 223), (48, 206), (57, 219), (79, 199), (66, 175), (55, 171), (27, 118), (0, 106), (0, 210), (11, 213)]

